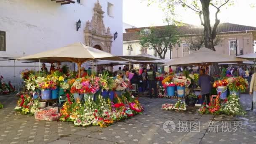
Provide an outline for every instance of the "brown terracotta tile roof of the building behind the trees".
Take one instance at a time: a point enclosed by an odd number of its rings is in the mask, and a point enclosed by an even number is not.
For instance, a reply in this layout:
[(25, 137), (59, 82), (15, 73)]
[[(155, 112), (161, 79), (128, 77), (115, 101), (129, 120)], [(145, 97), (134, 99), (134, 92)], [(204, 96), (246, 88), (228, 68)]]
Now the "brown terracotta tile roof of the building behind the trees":
[[(160, 26), (165, 27), (165, 26)], [(131, 29), (125, 29), (127, 32), (123, 33), (123, 41), (129, 41), (129, 40), (139, 40), (139, 32), (141, 29), (149, 28), (149, 27), (139, 27), (139, 28), (131, 28)], [(231, 24), (231, 23), (222, 23), (219, 24), (217, 28), (218, 33), (223, 32), (239, 32), (239, 31), (256, 31), (256, 27), (251, 26), (244, 26), (240, 24)], [(203, 27), (195, 27), (190, 24), (184, 24), (181, 27), (177, 27), (177, 31), (180, 35), (195, 35), (195, 34), (202, 34), (203, 33)]]

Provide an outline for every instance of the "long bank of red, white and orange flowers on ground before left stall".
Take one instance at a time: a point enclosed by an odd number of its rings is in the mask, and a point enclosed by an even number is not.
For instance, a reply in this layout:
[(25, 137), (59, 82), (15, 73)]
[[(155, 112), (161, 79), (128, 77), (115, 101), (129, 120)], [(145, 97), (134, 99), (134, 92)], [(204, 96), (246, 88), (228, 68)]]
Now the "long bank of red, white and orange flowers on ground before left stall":
[(114, 121), (141, 114), (142, 111), (141, 104), (130, 93), (124, 93), (121, 97), (116, 95), (114, 101), (99, 95), (96, 101), (92, 97), (85, 102), (77, 103), (67, 100), (60, 110), (60, 120), (74, 122), (77, 126), (106, 127)]

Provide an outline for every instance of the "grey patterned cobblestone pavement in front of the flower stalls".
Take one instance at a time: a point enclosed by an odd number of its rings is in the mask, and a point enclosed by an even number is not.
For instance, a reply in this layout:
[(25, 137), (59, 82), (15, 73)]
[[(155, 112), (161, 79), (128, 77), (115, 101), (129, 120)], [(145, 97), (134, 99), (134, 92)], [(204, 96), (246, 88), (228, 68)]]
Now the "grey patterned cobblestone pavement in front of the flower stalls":
[[(0, 96), (4, 108), (0, 109), (0, 144), (255, 144), (255, 112), (247, 112), (243, 117), (199, 115), (197, 108), (187, 112), (161, 110), (163, 103), (175, 103), (174, 99), (140, 98), (144, 105), (143, 115), (117, 122), (107, 128), (74, 127), (67, 122), (47, 122), (35, 120), (33, 116), (16, 115), (14, 107), (17, 98), (13, 95)], [(244, 108), (250, 107), (251, 96), (242, 95)], [(167, 133), (163, 129), (165, 121), (171, 120), (176, 129)], [(209, 132), (209, 123), (242, 121), (241, 131), (223, 132), (221, 126)], [(190, 132), (191, 122), (200, 122), (200, 132)], [(184, 122), (184, 128), (178, 123)], [(185, 123), (186, 122), (186, 123)], [(185, 125), (187, 124), (187, 126)], [(170, 128), (170, 125), (168, 126)], [(191, 129), (192, 130), (192, 129)], [(208, 131), (207, 131), (208, 130)], [(218, 131), (217, 131), (218, 130)], [(180, 132), (179, 132), (180, 131)], [(183, 132), (181, 132), (183, 131)]]

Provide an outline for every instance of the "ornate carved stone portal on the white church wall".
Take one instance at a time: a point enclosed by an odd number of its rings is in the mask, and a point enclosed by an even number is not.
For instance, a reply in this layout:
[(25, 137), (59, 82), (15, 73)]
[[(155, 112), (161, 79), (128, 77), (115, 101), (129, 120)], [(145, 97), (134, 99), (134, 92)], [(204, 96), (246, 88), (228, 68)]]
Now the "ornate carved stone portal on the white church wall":
[[(101, 48), (102, 51), (111, 53), (112, 35), (110, 28), (105, 28), (103, 22), (103, 13), (99, 0), (93, 8), (93, 17), (91, 22), (87, 21), (85, 26), (85, 44), (91, 47)], [(97, 46), (96, 46), (97, 45)]]

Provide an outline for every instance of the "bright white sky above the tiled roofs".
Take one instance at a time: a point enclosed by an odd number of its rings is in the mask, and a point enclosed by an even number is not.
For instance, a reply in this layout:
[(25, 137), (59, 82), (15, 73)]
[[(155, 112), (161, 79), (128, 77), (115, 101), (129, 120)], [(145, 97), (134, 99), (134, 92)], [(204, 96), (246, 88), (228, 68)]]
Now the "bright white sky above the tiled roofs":
[[(123, 22), (135, 27), (149, 27), (165, 25), (165, 13), (159, 8), (158, 3), (147, 6), (148, 0), (123, 0)], [(189, 0), (188, 0), (189, 1)], [(218, 15), (221, 23), (229, 22), (233, 24), (242, 24), (256, 27), (256, 7), (252, 8), (250, 4), (256, 4), (256, 0), (234, 0), (235, 5), (222, 7)], [(176, 20), (187, 24), (200, 25), (199, 16), (192, 10), (178, 7)], [(214, 22), (215, 8), (210, 9), (211, 22)]]

